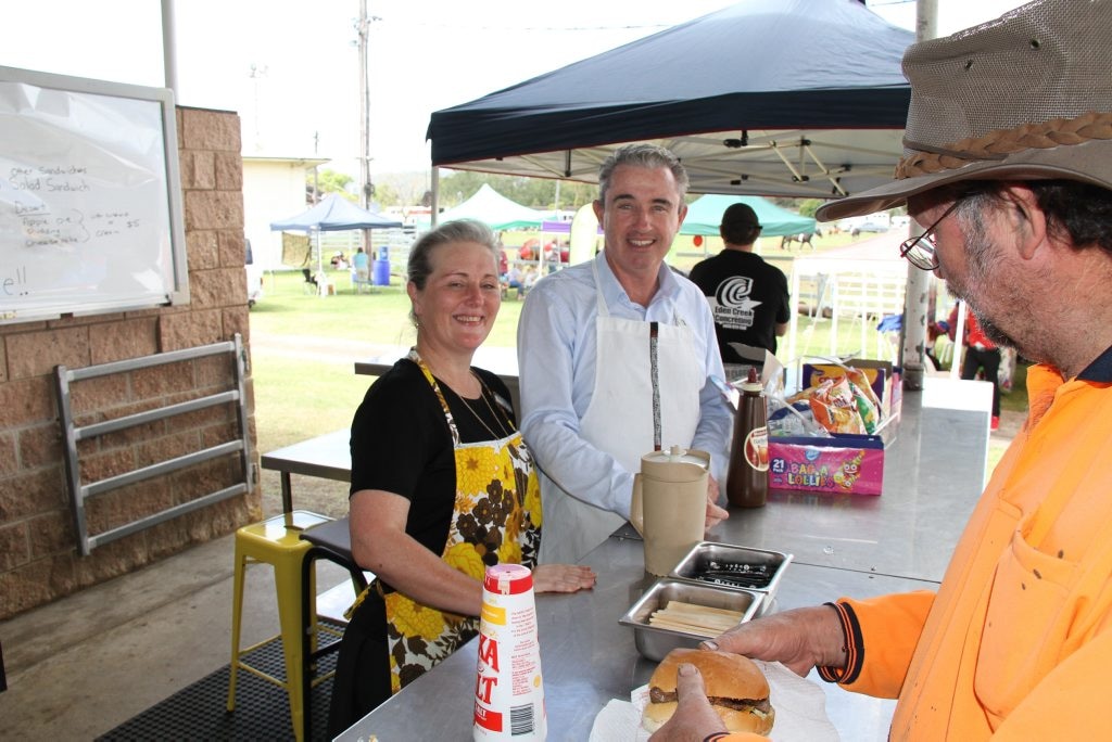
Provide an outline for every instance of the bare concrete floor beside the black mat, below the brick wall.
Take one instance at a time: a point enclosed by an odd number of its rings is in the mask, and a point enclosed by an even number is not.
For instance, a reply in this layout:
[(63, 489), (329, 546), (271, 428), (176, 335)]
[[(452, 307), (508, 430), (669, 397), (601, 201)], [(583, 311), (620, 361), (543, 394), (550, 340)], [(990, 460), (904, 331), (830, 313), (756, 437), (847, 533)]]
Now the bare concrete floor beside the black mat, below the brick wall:
[[(227, 665), (234, 553), (228, 535), (0, 622), (0, 740), (92, 740)], [(329, 562), (317, 574), (350, 584)], [(272, 571), (255, 564), (241, 645), (276, 633)]]

